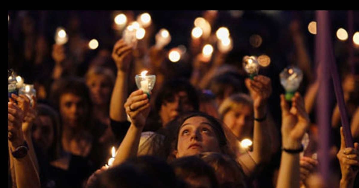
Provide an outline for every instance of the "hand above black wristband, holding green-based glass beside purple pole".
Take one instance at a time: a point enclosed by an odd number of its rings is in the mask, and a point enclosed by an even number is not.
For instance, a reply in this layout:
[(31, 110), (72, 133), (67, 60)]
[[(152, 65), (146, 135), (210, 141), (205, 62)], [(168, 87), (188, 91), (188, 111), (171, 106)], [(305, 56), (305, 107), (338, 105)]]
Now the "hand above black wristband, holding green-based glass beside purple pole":
[(282, 144), (286, 149), (298, 149), (301, 140), (309, 127), (309, 116), (305, 110), (302, 96), (295, 93), (292, 98), (292, 106), (286, 102), (284, 95), (280, 95), (282, 110)]

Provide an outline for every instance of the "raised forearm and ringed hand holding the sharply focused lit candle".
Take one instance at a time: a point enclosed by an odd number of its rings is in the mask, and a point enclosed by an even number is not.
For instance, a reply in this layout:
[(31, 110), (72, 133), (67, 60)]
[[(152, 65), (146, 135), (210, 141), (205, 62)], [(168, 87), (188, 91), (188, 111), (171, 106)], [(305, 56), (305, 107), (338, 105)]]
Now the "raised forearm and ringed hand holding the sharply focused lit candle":
[(117, 149), (114, 165), (121, 164), (126, 159), (137, 156), (141, 133), (150, 112), (149, 99), (142, 90), (132, 92), (123, 107), (125, 107), (130, 117), (131, 125)]

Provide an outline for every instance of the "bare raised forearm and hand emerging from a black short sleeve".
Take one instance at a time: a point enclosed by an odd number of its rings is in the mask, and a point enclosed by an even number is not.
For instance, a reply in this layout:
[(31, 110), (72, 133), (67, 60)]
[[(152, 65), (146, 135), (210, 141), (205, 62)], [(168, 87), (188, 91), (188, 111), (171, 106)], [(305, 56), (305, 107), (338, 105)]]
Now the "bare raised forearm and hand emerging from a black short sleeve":
[(112, 51), (112, 58), (117, 67), (117, 76), (111, 96), (110, 118), (115, 121), (127, 120), (123, 104), (126, 101), (128, 92), (128, 74), (132, 51), (132, 46), (127, 45), (123, 39), (116, 42)]

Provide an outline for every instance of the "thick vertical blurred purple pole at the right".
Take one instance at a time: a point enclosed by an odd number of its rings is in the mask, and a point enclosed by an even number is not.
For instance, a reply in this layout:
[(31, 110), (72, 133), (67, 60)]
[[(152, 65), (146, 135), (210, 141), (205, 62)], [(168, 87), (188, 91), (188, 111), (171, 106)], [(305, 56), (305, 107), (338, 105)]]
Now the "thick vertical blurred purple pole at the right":
[(329, 173), (330, 161), (329, 161), (329, 143), (330, 143), (330, 72), (327, 67), (327, 63), (330, 61), (330, 54), (328, 53), (327, 42), (330, 39), (328, 33), (328, 12), (325, 10), (317, 10), (317, 36), (316, 36), (316, 62), (318, 63), (318, 79), (319, 90), (317, 97), (317, 121), (318, 121), (318, 158), (319, 172), (321, 174), (324, 188), (330, 188)]

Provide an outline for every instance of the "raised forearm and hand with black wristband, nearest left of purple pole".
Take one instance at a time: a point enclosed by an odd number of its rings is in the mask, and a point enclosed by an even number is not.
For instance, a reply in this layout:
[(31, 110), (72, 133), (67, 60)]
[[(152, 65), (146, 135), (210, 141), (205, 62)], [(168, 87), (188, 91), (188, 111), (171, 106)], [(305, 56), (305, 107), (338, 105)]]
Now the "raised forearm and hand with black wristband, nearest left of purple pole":
[(301, 140), (309, 127), (309, 116), (299, 93), (292, 98), (292, 107), (280, 96), (282, 110), (282, 154), (277, 188), (299, 188), (299, 153), (303, 150)]

